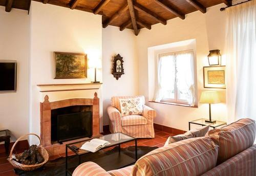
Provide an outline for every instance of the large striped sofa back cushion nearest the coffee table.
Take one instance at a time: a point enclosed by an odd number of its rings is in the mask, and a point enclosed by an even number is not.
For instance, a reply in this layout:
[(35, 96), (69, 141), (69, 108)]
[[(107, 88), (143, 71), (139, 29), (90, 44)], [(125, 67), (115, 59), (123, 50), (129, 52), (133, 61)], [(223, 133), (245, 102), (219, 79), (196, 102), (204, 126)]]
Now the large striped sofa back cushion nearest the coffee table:
[(201, 175), (216, 166), (218, 148), (206, 137), (169, 144), (141, 157), (131, 175)]

